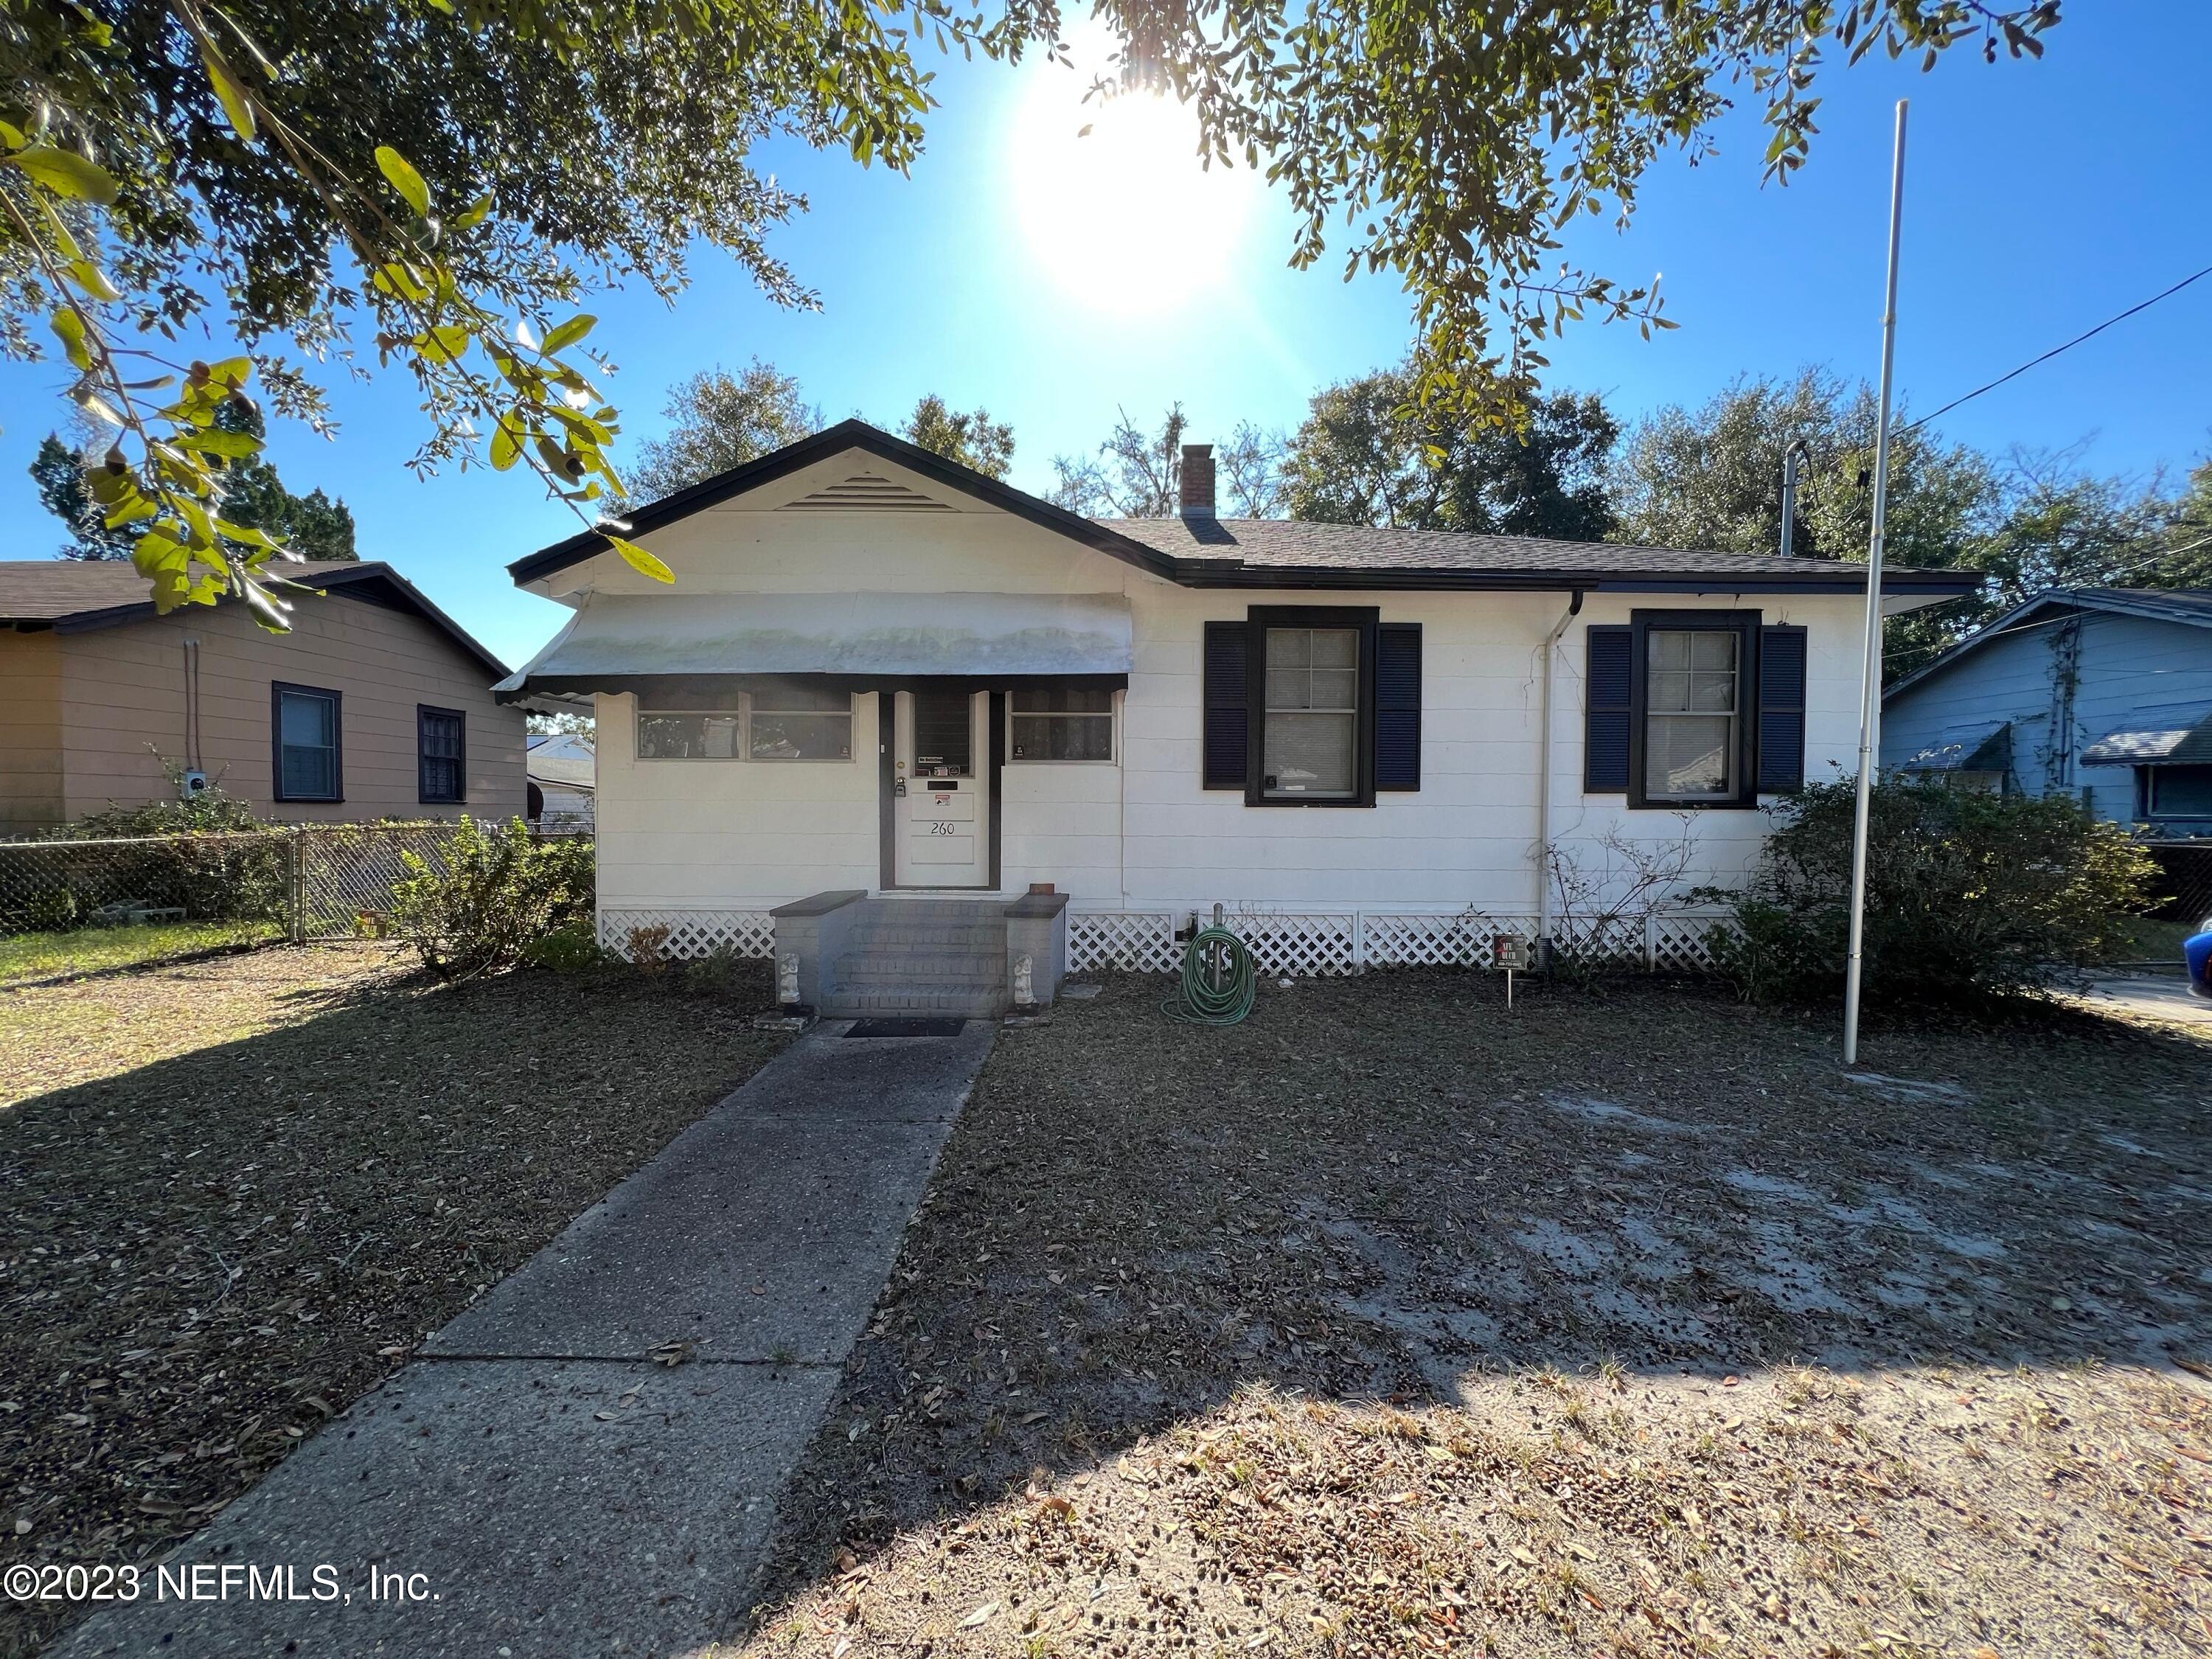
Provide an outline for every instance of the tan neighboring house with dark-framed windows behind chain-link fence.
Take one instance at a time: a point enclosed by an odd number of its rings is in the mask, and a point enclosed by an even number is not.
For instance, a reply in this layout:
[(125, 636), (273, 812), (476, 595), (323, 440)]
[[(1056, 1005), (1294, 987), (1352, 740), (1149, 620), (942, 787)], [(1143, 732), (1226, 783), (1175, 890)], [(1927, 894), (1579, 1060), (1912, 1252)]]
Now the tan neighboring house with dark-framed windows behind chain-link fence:
[(274, 821), (522, 812), (507, 670), (387, 564), (301, 564), (292, 633), (157, 617), (122, 562), (0, 562), (0, 836), (177, 796), (197, 770)]

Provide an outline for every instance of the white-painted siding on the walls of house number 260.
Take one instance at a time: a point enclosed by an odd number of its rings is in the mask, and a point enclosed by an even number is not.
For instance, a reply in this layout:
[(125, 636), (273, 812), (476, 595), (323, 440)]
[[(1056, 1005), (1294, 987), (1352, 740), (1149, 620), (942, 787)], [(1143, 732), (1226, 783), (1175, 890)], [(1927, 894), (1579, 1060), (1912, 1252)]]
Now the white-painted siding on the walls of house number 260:
[[(869, 471), (896, 469), (869, 462)], [(779, 484), (799, 498), (858, 467), (834, 462)], [(907, 480), (929, 489), (927, 480)], [(730, 507), (646, 538), (686, 593), (1126, 593), (1135, 664), (1119, 699), (1115, 765), (1004, 768), (1002, 889), (1051, 880), (1082, 907), (1230, 902), (1537, 909), (1540, 644), (1564, 593), (1199, 591), (1150, 577), (1018, 518), (953, 513), (774, 513)], [(611, 557), (551, 591), (653, 591)], [(659, 588), (668, 593), (668, 588)], [(1199, 653), (1208, 619), (1252, 604), (1378, 606), (1422, 624), (1422, 787), (1374, 807), (1245, 807), (1199, 787)], [(1732, 593), (1590, 595), (1559, 641), (1553, 832), (1590, 872), (1606, 838), (1697, 845), (1692, 880), (1728, 883), (1756, 856), (1761, 812), (1628, 812), (1582, 792), (1584, 628), (1635, 608), (1761, 606), (1809, 628), (1807, 776), (1849, 768), (1858, 741), (1860, 602)], [(635, 761), (633, 706), (599, 699), (599, 894), (608, 909), (765, 909), (825, 887), (880, 885), (876, 708), (858, 701), (849, 765)], [(1686, 830), (1688, 825), (1688, 830)]]

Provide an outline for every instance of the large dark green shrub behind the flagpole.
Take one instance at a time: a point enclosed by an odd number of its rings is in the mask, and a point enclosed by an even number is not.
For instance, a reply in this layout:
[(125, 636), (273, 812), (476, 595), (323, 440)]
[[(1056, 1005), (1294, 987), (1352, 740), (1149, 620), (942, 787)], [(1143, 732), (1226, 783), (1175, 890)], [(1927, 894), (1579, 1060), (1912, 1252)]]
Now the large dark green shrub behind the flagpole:
[[(1776, 830), (1714, 960), (1754, 1002), (1827, 998), (1849, 956), (1856, 785), (1812, 783)], [(1867, 834), (1867, 1000), (1973, 1004), (2044, 984), (2112, 947), (2157, 867), (2073, 796), (1980, 794), (1940, 779), (1876, 783)]]

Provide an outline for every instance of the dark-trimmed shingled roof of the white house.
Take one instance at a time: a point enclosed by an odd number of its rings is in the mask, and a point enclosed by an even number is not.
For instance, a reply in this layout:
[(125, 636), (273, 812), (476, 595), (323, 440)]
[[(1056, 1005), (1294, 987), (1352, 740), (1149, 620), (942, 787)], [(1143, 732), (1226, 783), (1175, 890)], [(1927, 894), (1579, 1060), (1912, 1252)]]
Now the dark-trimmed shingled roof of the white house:
[[(865, 420), (841, 420), (796, 445), (681, 489), (628, 513), (628, 535), (675, 524), (745, 491), (772, 484), (836, 453), (858, 449), (922, 478), (1004, 509), (1071, 542), (1117, 557), (1186, 588), (1590, 588), (1590, 591), (1763, 591), (1865, 593), (1863, 564), (1783, 560), (1617, 542), (1546, 542), (1531, 535), (1464, 535), (1458, 531), (1380, 531), (1365, 524), (1314, 524), (1279, 518), (1113, 518), (1091, 520), (1011, 484), (894, 438)], [(847, 480), (847, 487), (887, 480)], [(841, 487), (845, 489), (845, 487)], [(896, 487), (894, 487), (896, 489)], [(825, 491), (816, 491), (823, 495)], [(865, 495), (869, 491), (856, 491)], [(812, 509), (834, 500), (807, 498)], [(566, 571), (606, 553), (597, 531), (571, 535), (507, 566), (518, 584)], [(1927, 602), (1973, 593), (1971, 571), (1887, 571), (1885, 593)]]

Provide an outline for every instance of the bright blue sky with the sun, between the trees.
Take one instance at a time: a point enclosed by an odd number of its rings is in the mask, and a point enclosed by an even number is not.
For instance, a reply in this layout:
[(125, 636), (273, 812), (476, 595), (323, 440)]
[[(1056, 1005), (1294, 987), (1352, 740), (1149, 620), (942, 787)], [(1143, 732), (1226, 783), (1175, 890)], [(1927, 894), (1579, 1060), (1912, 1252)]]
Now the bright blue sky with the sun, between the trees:
[[(1871, 378), (1896, 97), (1911, 97), (1898, 380), (1922, 411), (2212, 263), (2203, 155), (2212, 7), (2081, 7), (2037, 62), (1951, 53), (1933, 73), (1867, 62), (1823, 86), (1823, 131), (1787, 188), (1761, 186), (1745, 108), (1721, 153), (1663, 159), (1626, 237), (1577, 252), (1641, 281), (1663, 272), (1681, 325), (1650, 343), (1584, 325), (1551, 383), (1604, 392), (1635, 418), (1694, 403), (1741, 372), (1825, 363)], [(2166, 66), (2166, 69), (2161, 69)], [(1044, 489), (1051, 456), (1093, 447), (1115, 407), (1157, 420), (1181, 400), (1192, 438), (1237, 420), (1296, 425), (1321, 385), (1396, 361), (1409, 338), (1389, 281), (1343, 283), (1340, 261), (1285, 268), (1290, 217), (1245, 177), (1197, 179), (1146, 135), (1079, 150), (1077, 80), (1033, 62), (942, 66), (945, 102), (909, 179), (785, 146), (772, 166), (812, 197), (776, 250), (818, 312), (765, 303), (712, 250), (677, 305), (604, 296), (595, 341), (622, 365), (630, 438), (657, 431), (670, 383), (763, 356), (796, 374), (825, 418), (891, 422), (916, 396), (1011, 420), (1013, 482)], [(1115, 161), (1135, 157), (1135, 161)], [(1066, 188), (1068, 168), (1079, 173)], [(1595, 223), (1595, 221), (1593, 221)], [(0, 509), (13, 557), (60, 540), (24, 473), (58, 425), (51, 365), (0, 365)], [(2088, 465), (2143, 473), (2212, 451), (2212, 279), (1944, 418), (2004, 449), (2088, 438)], [(422, 420), (407, 380), (334, 383), (334, 445), (279, 431), (294, 489), (347, 500), (365, 557), (392, 560), (491, 650), (520, 661), (560, 624), (513, 593), (504, 564), (573, 529), (520, 473), (418, 482)]]

